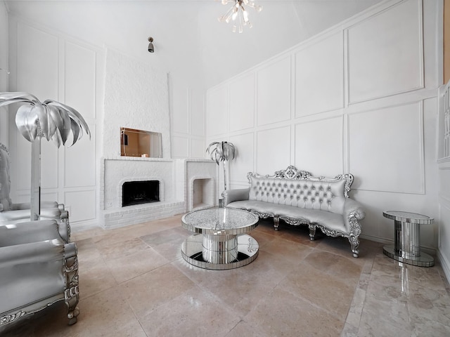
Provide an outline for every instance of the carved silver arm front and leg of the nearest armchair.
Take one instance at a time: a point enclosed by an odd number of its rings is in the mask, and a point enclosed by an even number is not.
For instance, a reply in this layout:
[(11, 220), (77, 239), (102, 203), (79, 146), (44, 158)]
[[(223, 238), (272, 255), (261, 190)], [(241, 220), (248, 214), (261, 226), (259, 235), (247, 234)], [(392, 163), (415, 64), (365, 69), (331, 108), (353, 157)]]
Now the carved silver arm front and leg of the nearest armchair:
[(79, 315), (79, 288), (78, 288), (78, 258), (72, 256), (65, 260), (66, 289), (64, 291), (64, 302), (68, 307), (69, 325), (77, 323)]

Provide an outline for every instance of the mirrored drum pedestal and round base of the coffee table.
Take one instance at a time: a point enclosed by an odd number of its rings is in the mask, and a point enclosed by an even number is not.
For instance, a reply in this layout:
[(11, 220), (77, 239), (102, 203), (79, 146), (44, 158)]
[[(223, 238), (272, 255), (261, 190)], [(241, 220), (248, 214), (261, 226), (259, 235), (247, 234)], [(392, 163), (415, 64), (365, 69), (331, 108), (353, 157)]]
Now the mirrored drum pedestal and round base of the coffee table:
[[(224, 249), (222, 244), (213, 242), (209, 235), (193, 234), (181, 244), (181, 256), (191, 265), (212, 270), (234, 269), (252, 263), (259, 253), (258, 242), (248, 234), (240, 234), (235, 238), (237, 247)], [(228, 241), (228, 245), (233, 244), (233, 239)], [(205, 242), (210, 244), (205, 245)]]

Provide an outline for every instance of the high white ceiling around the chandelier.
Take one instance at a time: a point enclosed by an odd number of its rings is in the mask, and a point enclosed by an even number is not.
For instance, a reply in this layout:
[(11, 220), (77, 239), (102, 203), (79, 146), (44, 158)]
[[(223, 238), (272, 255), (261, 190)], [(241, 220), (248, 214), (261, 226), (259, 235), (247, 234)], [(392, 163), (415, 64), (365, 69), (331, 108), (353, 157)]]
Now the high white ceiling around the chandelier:
[[(382, 0), (256, 0), (242, 34), (214, 0), (5, 1), (8, 11), (95, 46), (114, 48), (210, 88)], [(155, 53), (148, 53), (148, 37)]]

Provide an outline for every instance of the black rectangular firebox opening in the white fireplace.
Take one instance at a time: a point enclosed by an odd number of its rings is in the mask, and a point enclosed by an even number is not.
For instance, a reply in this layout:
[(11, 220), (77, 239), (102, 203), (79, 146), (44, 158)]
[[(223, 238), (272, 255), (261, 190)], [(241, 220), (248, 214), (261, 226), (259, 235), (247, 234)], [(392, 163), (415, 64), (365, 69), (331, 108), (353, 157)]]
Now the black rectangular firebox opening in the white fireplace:
[(127, 181), (122, 185), (122, 207), (160, 201), (159, 180)]

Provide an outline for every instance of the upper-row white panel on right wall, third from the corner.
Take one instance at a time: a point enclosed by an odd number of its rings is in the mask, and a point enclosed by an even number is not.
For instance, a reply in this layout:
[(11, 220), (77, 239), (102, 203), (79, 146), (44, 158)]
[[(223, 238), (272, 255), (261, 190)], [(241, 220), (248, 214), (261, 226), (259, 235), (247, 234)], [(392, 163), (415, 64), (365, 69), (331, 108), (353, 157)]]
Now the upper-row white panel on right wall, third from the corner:
[(258, 126), (290, 119), (290, 57), (257, 71)]

